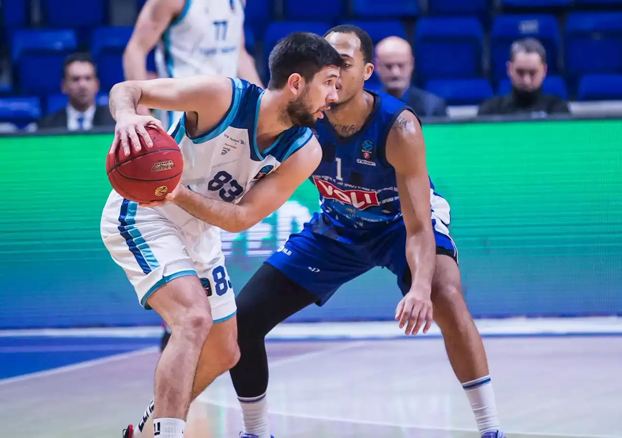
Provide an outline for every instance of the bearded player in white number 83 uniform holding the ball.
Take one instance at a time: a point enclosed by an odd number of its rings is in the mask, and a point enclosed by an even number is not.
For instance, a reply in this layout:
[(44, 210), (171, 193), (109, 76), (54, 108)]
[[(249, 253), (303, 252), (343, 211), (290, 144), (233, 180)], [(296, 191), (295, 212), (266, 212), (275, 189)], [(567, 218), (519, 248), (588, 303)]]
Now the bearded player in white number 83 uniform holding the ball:
[(138, 105), (184, 112), (171, 130), (183, 154), (180, 184), (164, 202), (141, 205), (113, 190), (101, 217), (104, 245), (139, 302), (172, 329), (156, 368), (154, 436), (182, 438), (190, 401), (238, 361), (220, 229), (243, 231), (271, 215), (317, 167), (322, 150), (304, 126), (337, 100), (342, 64), (325, 39), (297, 33), (272, 50), (267, 90), (218, 76), (129, 81), (111, 90), (111, 154), (138, 151), (138, 136), (149, 147), (144, 126), (159, 121), (137, 114)]

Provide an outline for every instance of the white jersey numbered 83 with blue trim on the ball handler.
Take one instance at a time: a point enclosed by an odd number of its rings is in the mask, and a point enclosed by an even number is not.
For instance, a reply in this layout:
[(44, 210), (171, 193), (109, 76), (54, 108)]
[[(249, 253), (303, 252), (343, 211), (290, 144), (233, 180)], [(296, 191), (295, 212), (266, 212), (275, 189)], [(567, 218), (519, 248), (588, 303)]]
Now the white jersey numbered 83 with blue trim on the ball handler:
[[(181, 184), (204, 197), (237, 203), (256, 182), (307, 144), (313, 133), (309, 128), (287, 129), (272, 146), (259, 152), (256, 128), (264, 90), (241, 79), (231, 81), (231, 107), (218, 126), (191, 137), (186, 133), (185, 117), (182, 117), (169, 134), (183, 154)], [(219, 228), (196, 220), (176, 205), (166, 204), (159, 210), (192, 235), (220, 236)]]

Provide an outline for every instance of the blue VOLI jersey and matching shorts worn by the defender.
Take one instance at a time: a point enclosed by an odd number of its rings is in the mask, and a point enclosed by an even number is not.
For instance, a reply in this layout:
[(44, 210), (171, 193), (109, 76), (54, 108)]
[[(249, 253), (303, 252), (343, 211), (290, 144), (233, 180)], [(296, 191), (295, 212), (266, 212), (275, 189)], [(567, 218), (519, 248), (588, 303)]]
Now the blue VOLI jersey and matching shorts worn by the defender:
[[(341, 285), (376, 266), (396, 275), (402, 294), (411, 288), (406, 226), (395, 169), (386, 161), (385, 151), (397, 118), (412, 109), (384, 93), (370, 94), (374, 107), (358, 133), (341, 137), (327, 118), (317, 121), (314, 131), (323, 157), (310, 179), (320, 192), (322, 212), (314, 213), (266, 260), (315, 295), (319, 305)], [(448, 230), (449, 212), (449, 204), (434, 193), (430, 180), (437, 254), (457, 261)]]

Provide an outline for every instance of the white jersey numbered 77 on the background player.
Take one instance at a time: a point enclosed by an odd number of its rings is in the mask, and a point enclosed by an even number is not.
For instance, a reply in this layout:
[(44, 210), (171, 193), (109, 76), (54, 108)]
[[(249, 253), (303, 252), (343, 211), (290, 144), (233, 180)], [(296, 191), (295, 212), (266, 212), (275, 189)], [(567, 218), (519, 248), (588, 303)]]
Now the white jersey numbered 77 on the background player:
[(238, 76), (242, 0), (186, 0), (156, 50), (160, 77)]

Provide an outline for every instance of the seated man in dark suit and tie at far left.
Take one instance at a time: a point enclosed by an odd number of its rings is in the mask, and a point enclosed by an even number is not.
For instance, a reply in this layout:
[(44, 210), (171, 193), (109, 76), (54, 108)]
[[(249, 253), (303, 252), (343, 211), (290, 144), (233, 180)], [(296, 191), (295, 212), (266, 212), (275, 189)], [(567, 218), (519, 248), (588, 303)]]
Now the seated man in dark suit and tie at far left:
[(88, 54), (73, 54), (65, 59), (61, 88), (68, 97), (67, 106), (40, 119), (39, 129), (88, 131), (95, 126), (114, 126), (108, 107), (95, 103), (100, 81)]

